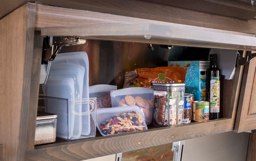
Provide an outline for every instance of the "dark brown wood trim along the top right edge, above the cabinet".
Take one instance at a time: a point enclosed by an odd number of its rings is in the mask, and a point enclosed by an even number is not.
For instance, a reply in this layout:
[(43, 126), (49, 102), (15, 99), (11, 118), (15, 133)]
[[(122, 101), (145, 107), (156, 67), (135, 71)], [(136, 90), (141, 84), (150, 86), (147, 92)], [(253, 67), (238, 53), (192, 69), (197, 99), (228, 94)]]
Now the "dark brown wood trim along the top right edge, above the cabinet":
[[(219, 14), (224, 16), (235, 17), (244, 20), (251, 20), (256, 15), (256, 9), (251, 4), (236, 1), (221, 0), (182, 0), (182, 1), (165, 1), (165, 0), (143, 0), (146, 2), (159, 3), (183, 9)], [(241, 14), (243, 13), (243, 14)]]

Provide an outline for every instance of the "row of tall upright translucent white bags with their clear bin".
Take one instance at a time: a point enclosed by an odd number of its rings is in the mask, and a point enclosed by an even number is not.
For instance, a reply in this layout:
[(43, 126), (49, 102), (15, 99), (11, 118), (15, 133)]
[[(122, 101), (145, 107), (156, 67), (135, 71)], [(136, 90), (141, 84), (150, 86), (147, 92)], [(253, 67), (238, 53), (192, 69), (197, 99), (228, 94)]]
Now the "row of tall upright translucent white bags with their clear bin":
[(95, 136), (96, 99), (89, 98), (89, 60), (85, 52), (59, 54), (43, 84), (45, 111), (57, 114), (57, 137)]

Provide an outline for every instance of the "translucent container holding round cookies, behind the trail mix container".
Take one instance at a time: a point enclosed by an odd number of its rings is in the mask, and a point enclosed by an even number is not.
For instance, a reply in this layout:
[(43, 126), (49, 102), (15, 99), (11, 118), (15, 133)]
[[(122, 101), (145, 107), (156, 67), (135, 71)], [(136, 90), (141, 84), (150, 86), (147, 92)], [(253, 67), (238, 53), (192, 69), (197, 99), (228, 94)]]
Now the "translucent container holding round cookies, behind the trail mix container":
[(151, 88), (133, 87), (110, 92), (113, 107), (139, 106), (147, 125), (152, 122), (154, 110), (154, 90)]

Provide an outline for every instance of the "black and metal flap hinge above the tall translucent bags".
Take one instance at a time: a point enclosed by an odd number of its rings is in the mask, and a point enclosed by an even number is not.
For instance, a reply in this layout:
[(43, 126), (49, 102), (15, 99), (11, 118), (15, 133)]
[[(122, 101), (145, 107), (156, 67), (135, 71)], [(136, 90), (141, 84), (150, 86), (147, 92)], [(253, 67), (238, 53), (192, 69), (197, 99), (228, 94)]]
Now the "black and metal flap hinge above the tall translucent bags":
[(81, 45), (85, 43), (86, 40), (79, 37), (64, 37), (54, 41), (52, 37), (45, 37), (42, 60), (46, 62), (53, 61), (63, 46)]

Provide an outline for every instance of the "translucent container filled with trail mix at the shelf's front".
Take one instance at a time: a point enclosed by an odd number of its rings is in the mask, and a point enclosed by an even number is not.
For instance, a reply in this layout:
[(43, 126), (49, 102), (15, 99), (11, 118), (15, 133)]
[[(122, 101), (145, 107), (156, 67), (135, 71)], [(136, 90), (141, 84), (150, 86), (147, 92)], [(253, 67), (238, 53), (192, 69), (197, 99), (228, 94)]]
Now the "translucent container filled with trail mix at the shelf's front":
[(97, 128), (103, 136), (148, 129), (138, 106), (98, 109)]

